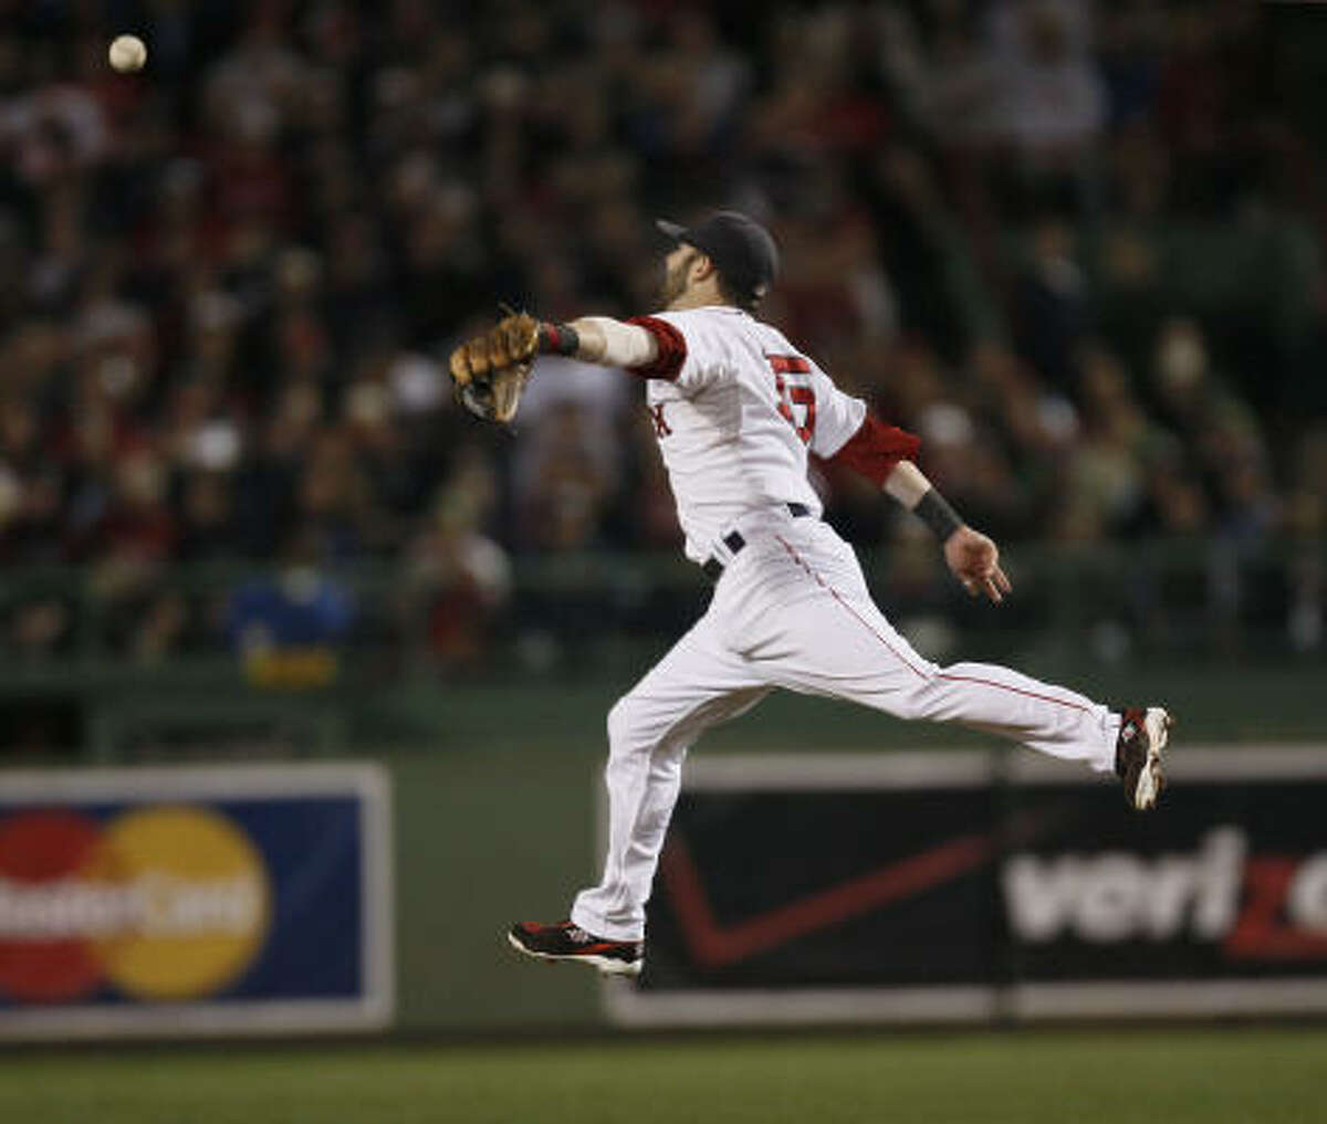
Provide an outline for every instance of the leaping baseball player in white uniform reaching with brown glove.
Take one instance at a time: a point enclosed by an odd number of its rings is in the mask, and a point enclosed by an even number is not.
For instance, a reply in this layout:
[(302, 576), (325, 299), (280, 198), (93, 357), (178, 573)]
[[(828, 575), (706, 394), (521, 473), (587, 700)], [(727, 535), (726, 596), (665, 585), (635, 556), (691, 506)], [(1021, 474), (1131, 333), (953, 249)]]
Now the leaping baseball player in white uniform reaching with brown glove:
[[(776, 687), (959, 722), (1113, 770), (1132, 807), (1152, 807), (1172, 725), (1165, 709), (1112, 710), (990, 664), (940, 667), (894, 631), (852, 547), (820, 518), (807, 480), (811, 453), (867, 476), (917, 514), (969, 592), (998, 604), (1010, 583), (995, 543), (917, 468), (917, 437), (872, 416), (754, 315), (778, 273), (764, 228), (733, 211), (691, 228), (658, 227), (674, 243), (662, 311), (561, 325), (512, 315), (451, 357), (462, 399), (499, 420), (515, 412), (537, 354), (644, 378), (686, 555), (714, 582), (705, 615), (609, 712), (609, 839), (598, 885), (577, 895), (569, 920), (516, 924), (510, 942), (541, 960), (638, 974), (645, 904), (687, 749)], [(511, 371), (510, 387), (491, 386)]]

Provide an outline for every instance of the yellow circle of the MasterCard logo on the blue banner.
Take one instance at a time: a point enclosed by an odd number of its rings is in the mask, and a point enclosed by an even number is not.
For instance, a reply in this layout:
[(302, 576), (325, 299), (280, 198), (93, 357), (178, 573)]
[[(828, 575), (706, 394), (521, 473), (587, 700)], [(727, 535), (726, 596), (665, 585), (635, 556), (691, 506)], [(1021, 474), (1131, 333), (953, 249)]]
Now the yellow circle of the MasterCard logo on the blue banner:
[(105, 977), (130, 995), (212, 994), (263, 948), (272, 912), (267, 868), (218, 813), (151, 807), (117, 816), (86, 875), (111, 891), (107, 916), (90, 927), (92, 945)]

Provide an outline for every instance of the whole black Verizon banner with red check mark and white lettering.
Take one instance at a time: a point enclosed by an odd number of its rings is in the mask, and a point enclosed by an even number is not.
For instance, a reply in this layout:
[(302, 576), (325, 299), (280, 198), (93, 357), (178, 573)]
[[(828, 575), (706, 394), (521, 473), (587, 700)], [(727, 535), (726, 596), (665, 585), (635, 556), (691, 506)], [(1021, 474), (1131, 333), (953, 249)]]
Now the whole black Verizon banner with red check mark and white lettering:
[(625, 1023), (1327, 1010), (1327, 753), (697, 758)]

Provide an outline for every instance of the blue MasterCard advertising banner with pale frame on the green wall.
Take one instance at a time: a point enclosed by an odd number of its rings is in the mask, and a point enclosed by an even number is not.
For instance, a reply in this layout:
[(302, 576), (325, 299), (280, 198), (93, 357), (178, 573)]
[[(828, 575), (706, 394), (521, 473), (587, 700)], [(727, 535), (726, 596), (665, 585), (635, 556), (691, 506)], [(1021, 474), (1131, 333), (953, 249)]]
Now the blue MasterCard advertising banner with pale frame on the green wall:
[(0, 773), (0, 1037), (389, 1025), (389, 816), (374, 765)]

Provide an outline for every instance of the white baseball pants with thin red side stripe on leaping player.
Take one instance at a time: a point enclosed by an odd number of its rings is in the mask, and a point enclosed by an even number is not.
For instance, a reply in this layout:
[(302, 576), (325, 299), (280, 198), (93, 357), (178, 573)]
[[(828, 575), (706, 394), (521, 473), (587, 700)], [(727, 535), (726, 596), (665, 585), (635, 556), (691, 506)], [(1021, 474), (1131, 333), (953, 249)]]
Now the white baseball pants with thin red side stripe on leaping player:
[(726, 566), (705, 616), (609, 712), (608, 856), (600, 884), (572, 905), (583, 929), (644, 938), (687, 749), (775, 687), (900, 718), (959, 722), (1097, 771), (1113, 769), (1119, 714), (1007, 668), (942, 668), (917, 655), (871, 600), (856, 554), (827, 524), (780, 508), (736, 530), (746, 546)]

